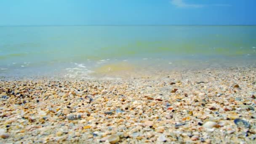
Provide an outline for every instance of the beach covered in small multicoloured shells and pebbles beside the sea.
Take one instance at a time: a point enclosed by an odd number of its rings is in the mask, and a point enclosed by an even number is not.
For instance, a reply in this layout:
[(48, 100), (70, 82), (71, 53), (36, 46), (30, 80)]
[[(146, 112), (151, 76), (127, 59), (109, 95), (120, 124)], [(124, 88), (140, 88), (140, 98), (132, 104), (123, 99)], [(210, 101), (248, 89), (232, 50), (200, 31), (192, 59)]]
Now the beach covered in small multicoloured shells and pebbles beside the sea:
[(253, 143), (256, 68), (1, 80), (0, 143)]

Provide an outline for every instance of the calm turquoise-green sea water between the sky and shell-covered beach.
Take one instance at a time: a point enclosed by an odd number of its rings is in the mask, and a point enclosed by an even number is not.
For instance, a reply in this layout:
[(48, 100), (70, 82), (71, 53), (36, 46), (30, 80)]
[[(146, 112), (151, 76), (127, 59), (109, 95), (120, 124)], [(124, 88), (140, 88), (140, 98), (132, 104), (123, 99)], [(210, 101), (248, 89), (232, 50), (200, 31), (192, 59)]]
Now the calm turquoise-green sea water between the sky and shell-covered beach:
[(256, 26), (0, 27), (0, 76), (254, 65)]

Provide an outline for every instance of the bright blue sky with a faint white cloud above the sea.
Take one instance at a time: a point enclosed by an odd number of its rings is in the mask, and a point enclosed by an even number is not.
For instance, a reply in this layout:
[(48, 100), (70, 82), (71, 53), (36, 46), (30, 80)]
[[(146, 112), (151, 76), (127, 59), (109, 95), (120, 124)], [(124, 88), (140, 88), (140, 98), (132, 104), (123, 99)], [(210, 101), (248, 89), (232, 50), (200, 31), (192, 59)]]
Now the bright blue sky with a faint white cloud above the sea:
[(256, 0), (0, 0), (0, 26), (255, 25)]

